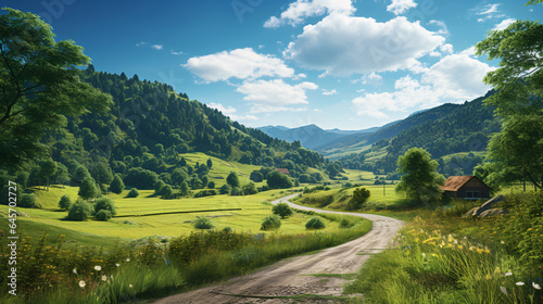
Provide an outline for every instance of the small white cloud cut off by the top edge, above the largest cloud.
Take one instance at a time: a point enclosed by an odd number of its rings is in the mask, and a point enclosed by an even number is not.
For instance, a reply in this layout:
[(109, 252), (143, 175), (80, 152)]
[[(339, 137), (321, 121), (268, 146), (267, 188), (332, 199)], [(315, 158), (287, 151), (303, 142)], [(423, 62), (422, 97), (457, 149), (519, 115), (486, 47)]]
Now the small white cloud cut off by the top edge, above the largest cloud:
[(306, 17), (319, 16), (325, 13), (346, 14), (354, 13), (351, 0), (296, 0), (281, 13), (280, 17), (272, 16), (264, 23), (264, 27), (279, 27), (285, 24), (295, 26), (304, 22)]

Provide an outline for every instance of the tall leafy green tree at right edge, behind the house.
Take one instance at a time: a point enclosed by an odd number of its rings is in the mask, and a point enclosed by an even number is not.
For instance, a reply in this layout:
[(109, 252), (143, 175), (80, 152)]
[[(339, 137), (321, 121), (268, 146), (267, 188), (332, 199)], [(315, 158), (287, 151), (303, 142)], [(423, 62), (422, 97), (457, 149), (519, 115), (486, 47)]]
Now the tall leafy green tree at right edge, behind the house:
[[(543, 0), (530, 0), (529, 4)], [(488, 161), (476, 173), (485, 180), (507, 183), (528, 178), (543, 188), (543, 25), (539, 21), (517, 21), (503, 30), (493, 30), (476, 46), (477, 54), (501, 60), (484, 83), (497, 92), (487, 100), (496, 106), (503, 129), (489, 145)], [(513, 178), (514, 177), (514, 178)]]

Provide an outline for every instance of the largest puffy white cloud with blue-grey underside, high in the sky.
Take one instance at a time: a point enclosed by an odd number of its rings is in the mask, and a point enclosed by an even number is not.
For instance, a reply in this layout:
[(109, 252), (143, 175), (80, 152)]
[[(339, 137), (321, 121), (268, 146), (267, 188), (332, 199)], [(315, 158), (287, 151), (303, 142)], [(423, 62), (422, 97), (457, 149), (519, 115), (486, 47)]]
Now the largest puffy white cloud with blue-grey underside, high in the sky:
[(408, 68), (444, 38), (400, 16), (387, 23), (332, 14), (307, 25), (283, 55), (301, 66), (340, 76)]

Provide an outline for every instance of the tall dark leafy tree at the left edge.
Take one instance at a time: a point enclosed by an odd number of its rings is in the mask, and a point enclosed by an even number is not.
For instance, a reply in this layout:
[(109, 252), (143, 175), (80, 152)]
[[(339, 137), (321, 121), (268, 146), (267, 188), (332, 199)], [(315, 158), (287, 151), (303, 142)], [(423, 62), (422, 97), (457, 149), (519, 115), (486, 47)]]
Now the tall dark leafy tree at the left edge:
[(74, 41), (54, 41), (38, 15), (4, 8), (0, 15), (0, 167), (21, 167), (46, 154), (48, 129), (65, 115), (105, 111), (112, 99), (79, 80), (90, 59)]

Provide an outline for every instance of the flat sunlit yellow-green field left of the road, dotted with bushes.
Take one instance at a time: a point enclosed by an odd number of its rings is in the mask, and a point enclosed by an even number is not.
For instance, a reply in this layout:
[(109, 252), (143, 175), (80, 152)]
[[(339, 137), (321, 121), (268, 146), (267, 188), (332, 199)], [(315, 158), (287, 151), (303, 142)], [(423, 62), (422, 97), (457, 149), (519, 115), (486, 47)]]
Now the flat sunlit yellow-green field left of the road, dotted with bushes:
[[(77, 193), (77, 188), (51, 187), (50, 191), (37, 191), (38, 202), (48, 206), (48, 210), (17, 208), (17, 211), (29, 215), (29, 218), (20, 217), (22, 231), (37, 237), (50, 228), (51, 235), (53, 232), (55, 236), (73, 235), (74, 239), (81, 240), (84, 243), (92, 238), (96, 238), (97, 241), (90, 241), (91, 244), (100, 243), (99, 236), (108, 237), (108, 243), (112, 243), (116, 239), (134, 240), (149, 236), (171, 238), (190, 235), (191, 231), (195, 231), (191, 221), (197, 216), (206, 216), (212, 217), (216, 229), (230, 227), (235, 231), (257, 233), (261, 232), (262, 219), (272, 214), (272, 205), (268, 202), (287, 194), (280, 190), (273, 190), (245, 197), (215, 195), (200, 199), (162, 200), (153, 197), (152, 190), (141, 190), (138, 198), (127, 199), (125, 198), (127, 190), (125, 190), (122, 194), (109, 195), (115, 202), (118, 217), (113, 217), (109, 221), (91, 219), (81, 223), (63, 220), (67, 213), (55, 207), (55, 202), (66, 193), (71, 195), (72, 200), (75, 200), (74, 193)], [(232, 208), (240, 210), (201, 212)], [(0, 206), (0, 211), (5, 215), (8, 206)], [(144, 216), (174, 212), (192, 213)], [(304, 225), (308, 218), (310, 216), (303, 214), (294, 214), (282, 220), (278, 232), (305, 232)], [(327, 225), (329, 229), (338, 225), (337, 223), (327, 224), (329, 224)], [(85, 236), (87, 239), (84, 238)]]

